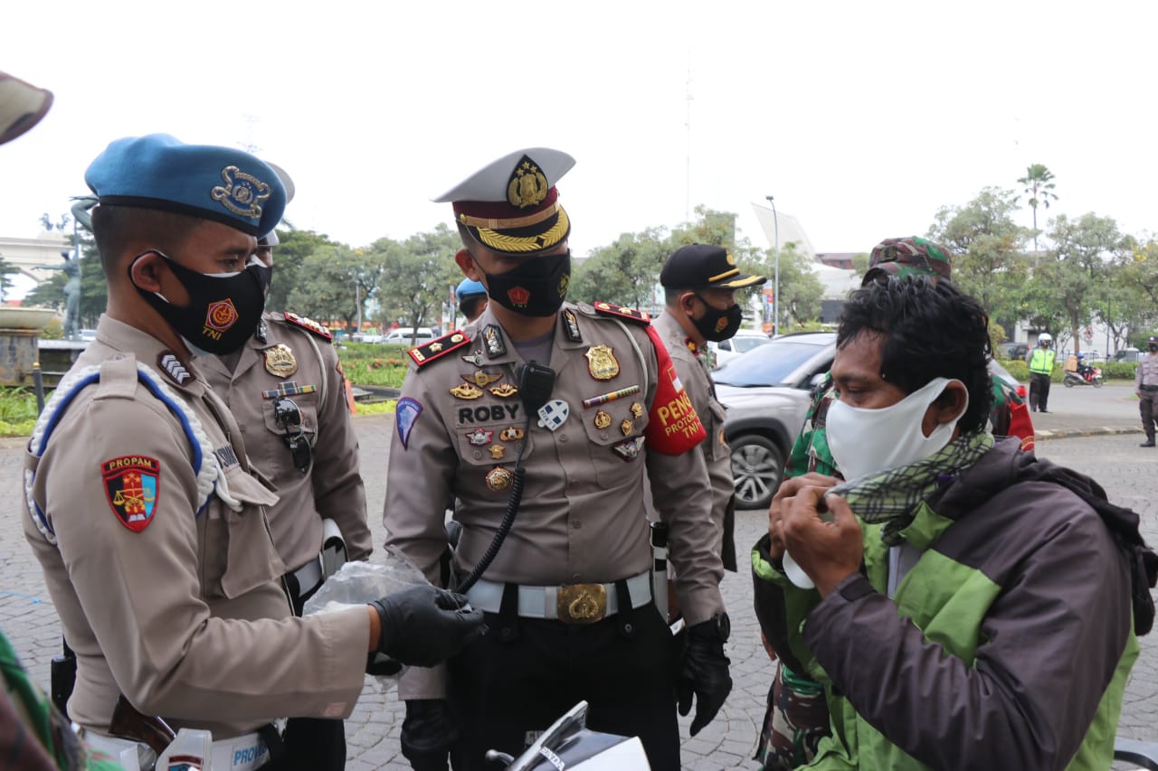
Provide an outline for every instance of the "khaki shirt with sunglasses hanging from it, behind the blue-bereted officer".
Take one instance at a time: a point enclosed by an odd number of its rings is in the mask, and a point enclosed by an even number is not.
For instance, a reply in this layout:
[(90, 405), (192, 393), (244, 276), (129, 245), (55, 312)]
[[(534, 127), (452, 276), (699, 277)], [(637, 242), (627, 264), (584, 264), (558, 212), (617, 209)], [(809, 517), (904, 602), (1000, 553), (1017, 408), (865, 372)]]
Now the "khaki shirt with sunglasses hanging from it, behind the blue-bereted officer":
[[(193, 364), (229, 405), (250, 462), (278, 493), (280, 500), (266, 513), (286, 567), (296, 570), (317, 558), (327, 517), (342, 530), (350, 559), (366, 559), (373, 539), (338, 354), (329, 339), (286, 321), (285, 314), (267, 313), (263, 321), (265, 340), (251, 337), (233, 372), (218, 357), (197, 357)], [(274, 391), (301, 410), (301, 427), (313, 447), (306, 472), (294, 465), (285, 427), (274, 418)]]

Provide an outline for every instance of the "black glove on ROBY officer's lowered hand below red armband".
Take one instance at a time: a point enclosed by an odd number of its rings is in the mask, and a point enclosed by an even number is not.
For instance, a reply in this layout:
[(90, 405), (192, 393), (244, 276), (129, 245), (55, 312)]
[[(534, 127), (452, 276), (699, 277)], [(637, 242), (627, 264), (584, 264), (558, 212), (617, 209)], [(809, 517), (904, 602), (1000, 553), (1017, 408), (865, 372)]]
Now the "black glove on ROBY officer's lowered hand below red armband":
[(691, 697), (696, 697), (692, 736), (712, 721), (732, 692), (732, 676), (727, 670), (731, 662), (724, 655), (728, 631), (727, 614), (717, 614), (709, 621), (688, 627), (675, 695), (681, 715), (691, 711)]

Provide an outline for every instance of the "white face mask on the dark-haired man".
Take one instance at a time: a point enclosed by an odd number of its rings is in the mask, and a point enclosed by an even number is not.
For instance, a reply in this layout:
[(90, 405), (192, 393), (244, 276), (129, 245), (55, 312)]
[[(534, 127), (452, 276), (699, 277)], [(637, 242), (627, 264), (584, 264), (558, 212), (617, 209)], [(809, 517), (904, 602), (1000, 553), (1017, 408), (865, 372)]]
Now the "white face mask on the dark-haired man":
[(828, 406), (824, 435), (836, 468), (844, 478), (852, 482), (886, 469), (909, 465), (948, 445), (958, 420), (969, 407), (968, 394), (961, 413), (933, 428), (930, 435), (925, 436), (921, 431), (921, 423), (929, 405), (951, 382), (947, 377), (935, 377), (896, 404), (879, 410), (833, 402)]

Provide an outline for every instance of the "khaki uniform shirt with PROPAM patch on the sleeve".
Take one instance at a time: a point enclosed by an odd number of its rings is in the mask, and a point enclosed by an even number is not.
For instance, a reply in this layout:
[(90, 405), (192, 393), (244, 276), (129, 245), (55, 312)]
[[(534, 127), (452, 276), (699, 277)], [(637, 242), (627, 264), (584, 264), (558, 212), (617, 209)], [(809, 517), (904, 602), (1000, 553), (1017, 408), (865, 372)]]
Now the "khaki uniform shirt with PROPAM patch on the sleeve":
[[(100, 382), (67, 405), (38, 463), (25, 454), (39, 512), (24, 501), (24, 535), (76, 652), (72, 719), (108, 732), (118, 693), (214, 739), (278, 717), (349, 715), (364, 681), (365, 609), (291, 616), (263, 511), (277, 497), (247, 472), (237, 426), (196, 369), (183, 384), (159, 374), (164, 353), (148, 333), (102, 316), (69, 370), (100, 366)], [(138, 382), (138, 364), (154, 370), (161, 397)], [(177, 402), (199, 424), (196, 450)], [(198, 460), (225, 480), (201, 511)], [(133, 495), (139, 531), (123, 521)]]

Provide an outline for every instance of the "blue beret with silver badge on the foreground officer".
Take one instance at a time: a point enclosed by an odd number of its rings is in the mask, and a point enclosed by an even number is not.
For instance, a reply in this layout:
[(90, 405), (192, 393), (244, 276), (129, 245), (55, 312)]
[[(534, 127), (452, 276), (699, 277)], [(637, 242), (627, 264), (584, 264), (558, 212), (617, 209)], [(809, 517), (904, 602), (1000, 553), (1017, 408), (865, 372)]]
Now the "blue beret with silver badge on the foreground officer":
[(250, 235), (272, 230), (286, 208), (285, 185), (264, 162), (168, 134), (113, 141), (89, 164), (85, 182), (102, 204), (188, 214)]

